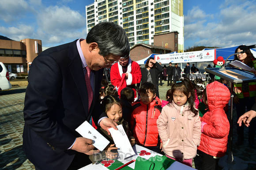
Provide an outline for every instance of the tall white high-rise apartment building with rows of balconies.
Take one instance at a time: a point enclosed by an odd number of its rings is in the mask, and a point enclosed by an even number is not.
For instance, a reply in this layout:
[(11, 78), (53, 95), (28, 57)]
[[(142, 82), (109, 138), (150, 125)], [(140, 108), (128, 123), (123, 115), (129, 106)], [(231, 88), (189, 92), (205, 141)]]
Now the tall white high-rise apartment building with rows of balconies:
[(131, 47), (154, 45), (154, 35), (176, 31), (177, 52), (184, 50), (183, 0), (94, 0), (86, 6), (87, 33), (105, 21), (122, 26)]

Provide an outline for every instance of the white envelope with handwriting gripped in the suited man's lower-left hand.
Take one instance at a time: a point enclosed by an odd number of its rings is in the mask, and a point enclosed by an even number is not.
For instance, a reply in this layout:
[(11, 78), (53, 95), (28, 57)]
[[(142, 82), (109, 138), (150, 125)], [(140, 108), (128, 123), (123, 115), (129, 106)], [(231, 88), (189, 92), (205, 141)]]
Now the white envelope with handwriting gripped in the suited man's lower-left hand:
[(82, 137), (93, 140), (93, 145), (100, 151), (106, 148), (109, 144), (109, 140), (102, 136), (94, 127), (87, 121), (83, 122), (78, 128), (75, 129)]

